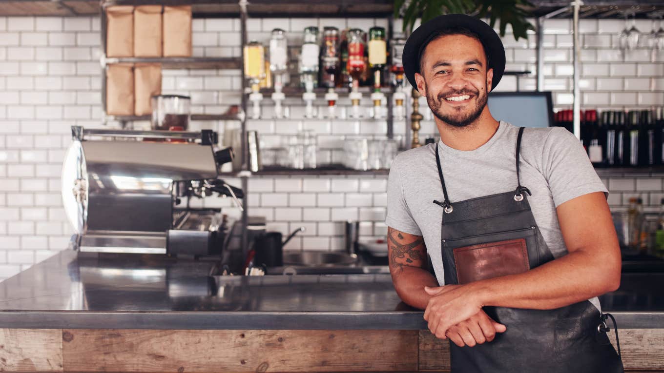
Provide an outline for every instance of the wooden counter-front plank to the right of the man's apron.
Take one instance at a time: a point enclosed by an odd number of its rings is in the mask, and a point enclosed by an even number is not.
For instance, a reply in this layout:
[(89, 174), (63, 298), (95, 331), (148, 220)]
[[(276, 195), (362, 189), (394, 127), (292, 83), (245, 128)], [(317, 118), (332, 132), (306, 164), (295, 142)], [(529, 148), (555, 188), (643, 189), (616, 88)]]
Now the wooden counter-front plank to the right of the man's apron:
[[(616, 347), (616, 334), (609, 333)], [(618, 329), (625, 370), (664, 371), (664, 329)]]

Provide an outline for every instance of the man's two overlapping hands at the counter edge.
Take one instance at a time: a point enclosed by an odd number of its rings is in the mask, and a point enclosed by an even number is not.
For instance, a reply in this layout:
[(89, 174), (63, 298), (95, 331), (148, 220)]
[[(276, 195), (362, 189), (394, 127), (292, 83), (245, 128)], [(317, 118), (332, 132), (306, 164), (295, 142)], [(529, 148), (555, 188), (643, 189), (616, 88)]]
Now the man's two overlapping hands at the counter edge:
[(438, 338), (448, 336), (459, 346), (464, 343), (474, 346), (493, 340), (495, 332), (502, 333), (507, 329), (481, 310), (483, 305), (473, 296), (474, 292), (468, 285), (425, 287), (424, 290), (432, 295), (424, 311), (424, 320), (428, 321), (429, 330)]

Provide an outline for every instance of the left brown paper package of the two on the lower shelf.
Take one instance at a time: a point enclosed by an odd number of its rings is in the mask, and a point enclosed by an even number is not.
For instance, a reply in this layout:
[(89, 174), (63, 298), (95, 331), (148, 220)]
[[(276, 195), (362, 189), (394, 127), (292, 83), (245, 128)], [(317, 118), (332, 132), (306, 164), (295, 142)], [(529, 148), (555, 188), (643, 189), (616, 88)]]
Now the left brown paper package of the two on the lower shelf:
[(133, 115), (133, 67), (110, 64), (106, 68), (106, 113)]

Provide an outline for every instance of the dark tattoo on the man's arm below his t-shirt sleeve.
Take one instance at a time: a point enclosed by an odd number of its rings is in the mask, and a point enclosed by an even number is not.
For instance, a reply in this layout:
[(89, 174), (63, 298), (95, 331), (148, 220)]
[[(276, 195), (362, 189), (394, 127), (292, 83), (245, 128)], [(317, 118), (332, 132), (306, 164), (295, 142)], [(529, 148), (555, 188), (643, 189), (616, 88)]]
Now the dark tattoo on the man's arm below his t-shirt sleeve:
[[(410, 235), (409, 235), (410, 236)], [(394, 228), (387, 230), (387, 248), (390, 254), (390, 272), (398, 275), (404, 271), (404, 266), (424, 267), (426, 248), (421, 236), (404, 238), (404, 235)]]

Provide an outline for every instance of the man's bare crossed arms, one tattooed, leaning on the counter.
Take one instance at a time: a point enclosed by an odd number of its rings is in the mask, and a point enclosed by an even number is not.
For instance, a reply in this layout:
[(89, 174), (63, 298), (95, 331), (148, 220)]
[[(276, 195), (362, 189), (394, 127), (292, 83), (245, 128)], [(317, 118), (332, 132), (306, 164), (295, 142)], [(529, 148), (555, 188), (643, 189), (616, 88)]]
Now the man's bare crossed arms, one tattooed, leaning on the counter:
[(397, 294), (405, 303), (426, 309), (424, 319), (432, 333), (452, 338), (449, 329), (483, 313), (484, 306), (554, 309), (618, 289), (620, 248), (604, 193), (579, 196), (560, 204), (556, 212), (568, 255), (525, 273), (466, 285), (436, 287), (424, 269), (422, 237), (390, 228), (390, 273)]

